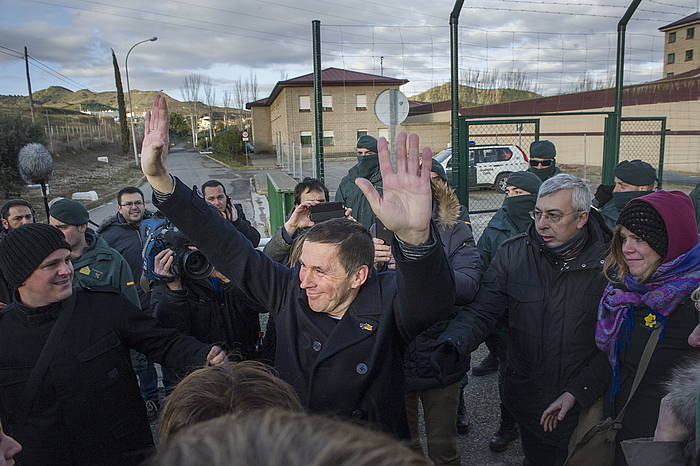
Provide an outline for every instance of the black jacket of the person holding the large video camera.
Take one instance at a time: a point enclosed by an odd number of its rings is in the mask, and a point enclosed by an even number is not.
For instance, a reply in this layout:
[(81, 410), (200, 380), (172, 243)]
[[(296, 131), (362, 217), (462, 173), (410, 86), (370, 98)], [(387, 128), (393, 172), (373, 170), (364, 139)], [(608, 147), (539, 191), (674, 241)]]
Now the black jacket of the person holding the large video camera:
[(222, 344), (227, 352), (244, 359), (255, 357), (260, 331), (256, 310), (246, 309), (251, 305), (232, 283), (217, 291), (208, 278), (185, 279), (178, 291), (158, 283), (151, 291), (151, 309), (163, 327), (206, 343)]

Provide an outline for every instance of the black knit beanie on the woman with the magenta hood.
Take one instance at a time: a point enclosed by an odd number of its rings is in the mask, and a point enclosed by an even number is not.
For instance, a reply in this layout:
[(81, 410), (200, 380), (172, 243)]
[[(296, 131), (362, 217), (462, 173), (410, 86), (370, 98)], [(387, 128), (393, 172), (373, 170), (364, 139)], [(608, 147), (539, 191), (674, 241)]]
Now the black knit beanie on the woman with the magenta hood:
[(650, 204), (632, 200), (620, 213), (617, 224), (646, 241), (656, 253), (666, 257), (668, 232), (661, 214)]

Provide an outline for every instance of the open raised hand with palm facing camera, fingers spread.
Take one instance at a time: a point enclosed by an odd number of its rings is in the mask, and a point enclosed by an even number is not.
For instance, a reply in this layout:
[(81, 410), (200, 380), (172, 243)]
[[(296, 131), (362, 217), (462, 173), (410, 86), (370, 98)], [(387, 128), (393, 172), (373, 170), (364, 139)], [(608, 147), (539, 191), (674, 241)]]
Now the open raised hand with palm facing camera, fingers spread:
[[(408, 149), (406, 148), (408, 139)], [(374, 214), (396, 236), (409, 244), (421, 244), (430, 237), (432, 194), (430, 191), (430, 164), (432, 151), (424, 148), (421, 169), (418, 136), (400, 133), (396, 138), (396, 173), (391, 167), (386, 139), (377, 143), (379, 168), (382, 172), (384, 194), (380, 196), (372, 183), (357, 178), (355, 184), (369, 201)]]

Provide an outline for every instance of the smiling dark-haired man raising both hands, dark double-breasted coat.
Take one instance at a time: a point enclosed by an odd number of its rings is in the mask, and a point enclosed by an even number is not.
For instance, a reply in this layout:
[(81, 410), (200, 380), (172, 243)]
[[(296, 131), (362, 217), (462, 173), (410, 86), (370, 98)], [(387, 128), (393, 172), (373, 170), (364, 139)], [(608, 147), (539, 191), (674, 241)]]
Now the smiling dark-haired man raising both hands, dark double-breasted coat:
[[(333, 219), (307, 233), (294, 268), (254, 250), (235, 228), (167, 170), (168, 108), (157, 96), (146, 115), (141, 166), (155, 205), (199, 246), (217, 270), (269, 309), (277, 323), (275, 366), (312, 412), (331, 413), (408, 437), (403, 350), (447, 319), (454, 283), (430, 223), (430, 169), (420, 169), (418, 137), (399, 135), (397, 171), (379, 142), (384, 193), (356, 183), (395, 233), (397, 271), (377, 274), (369, 232)], [(429, 149), (422, 157), (431, 158)], [(429, 310), (429, 311), (426, 311)]]

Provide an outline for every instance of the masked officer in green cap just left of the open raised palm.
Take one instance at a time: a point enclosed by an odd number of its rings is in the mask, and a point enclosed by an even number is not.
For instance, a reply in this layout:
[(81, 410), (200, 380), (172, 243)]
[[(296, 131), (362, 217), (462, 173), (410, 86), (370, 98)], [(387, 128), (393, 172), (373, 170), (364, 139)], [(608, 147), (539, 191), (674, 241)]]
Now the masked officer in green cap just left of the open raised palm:
[(355, 184), (356, 178), (365, 178), (374, 188), (382, 192), (382, 174), (379, 171), (379, 156), (377, 155), (377, 140), (365, 134), (357, 140), (357, 164), (348, 170), (348, 174), (340, 180), (338, 191), (335, 193), (336, 202), (342, 202), (345, 207), (352, 209), (352, 216), (365, 228), (376, 223), (376, 216), (367, 198)]

